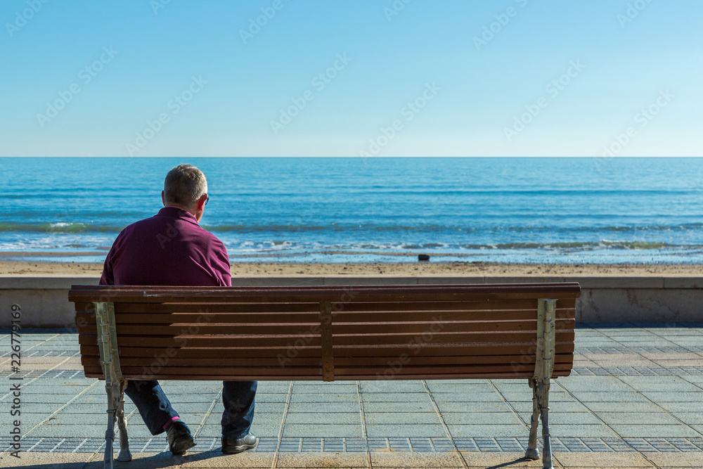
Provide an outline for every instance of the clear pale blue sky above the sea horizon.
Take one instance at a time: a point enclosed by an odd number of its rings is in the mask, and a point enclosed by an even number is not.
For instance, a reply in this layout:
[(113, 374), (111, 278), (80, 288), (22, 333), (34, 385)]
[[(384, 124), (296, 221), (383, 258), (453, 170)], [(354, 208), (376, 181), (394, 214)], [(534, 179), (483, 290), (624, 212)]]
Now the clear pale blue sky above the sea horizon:
[(3, 0), (0, 155), (701, 156), (701, 18), (698, 0)]

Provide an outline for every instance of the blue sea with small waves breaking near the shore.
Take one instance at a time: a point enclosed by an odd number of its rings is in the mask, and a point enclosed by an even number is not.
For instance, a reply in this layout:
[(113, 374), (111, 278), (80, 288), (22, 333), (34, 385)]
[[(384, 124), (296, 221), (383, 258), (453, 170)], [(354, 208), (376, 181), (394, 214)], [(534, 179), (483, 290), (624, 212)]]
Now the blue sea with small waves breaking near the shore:
[(0, 158), (0, 256), (101, 262), (182, 162), (232, 262), (703, 263), (703, 158)]

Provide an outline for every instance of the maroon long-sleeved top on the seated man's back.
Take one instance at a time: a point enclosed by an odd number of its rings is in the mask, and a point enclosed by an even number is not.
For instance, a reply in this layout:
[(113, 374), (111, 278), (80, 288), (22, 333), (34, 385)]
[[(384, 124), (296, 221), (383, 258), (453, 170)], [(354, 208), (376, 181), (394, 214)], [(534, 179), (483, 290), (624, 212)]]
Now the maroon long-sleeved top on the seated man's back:
[(101, 285), (231, 286), (221, 240), (192, 214), (164, 207), (117, 236), (103, 265)]

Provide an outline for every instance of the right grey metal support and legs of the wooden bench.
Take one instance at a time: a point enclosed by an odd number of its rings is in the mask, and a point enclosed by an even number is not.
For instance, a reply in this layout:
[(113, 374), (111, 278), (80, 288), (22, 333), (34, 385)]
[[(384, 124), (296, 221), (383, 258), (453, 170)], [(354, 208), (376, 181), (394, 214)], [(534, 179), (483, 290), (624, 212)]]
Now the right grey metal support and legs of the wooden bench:
[(549, 435), (549, 385), (554, 370), (556, 302), (557, 300), (544, 298), (538, 300), (536, 361), (534, 375), (529, 378), (529, 387), (532, 388), (532, 418), (525, 458), (539, 459), (537, 428), (541, 419), (544, 469), (553, 468)]

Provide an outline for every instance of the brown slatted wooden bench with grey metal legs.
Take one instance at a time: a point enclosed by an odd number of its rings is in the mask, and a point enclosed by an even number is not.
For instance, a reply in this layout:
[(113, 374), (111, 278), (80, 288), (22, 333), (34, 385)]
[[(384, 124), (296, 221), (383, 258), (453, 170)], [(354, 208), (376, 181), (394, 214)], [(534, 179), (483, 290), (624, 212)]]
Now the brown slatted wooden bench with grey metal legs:
[(529, 380), (526, 457), (552, 467), (550, 378), (574, 359), (578, 283), (138, 287), (73, 285), (86, 377), (105, 379), (105, 466), (126, 380)]

